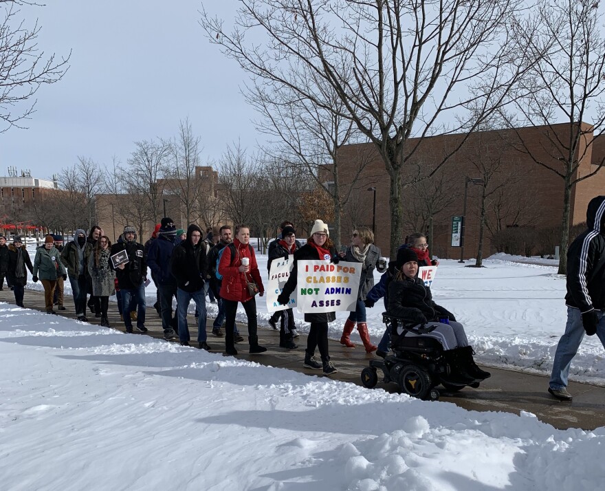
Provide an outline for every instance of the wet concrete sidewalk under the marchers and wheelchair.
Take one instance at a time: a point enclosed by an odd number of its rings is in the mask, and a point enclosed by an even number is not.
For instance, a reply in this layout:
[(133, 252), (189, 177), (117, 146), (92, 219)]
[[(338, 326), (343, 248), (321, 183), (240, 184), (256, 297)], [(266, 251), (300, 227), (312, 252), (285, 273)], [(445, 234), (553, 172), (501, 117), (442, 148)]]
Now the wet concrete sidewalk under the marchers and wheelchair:
[[(14, 303), (14, 296), (7, 287), (0, 292), (0, 301)], [(42, 292), (25, 290), (25, 307), (45, 311), (44, 295)], [(67, 310), (59, 312), (60, 315), (74, 318), (74, 303), (72, 297), (65, 298)], [(89, 323), (99, 325), (100, 319), (94, 318), (94, 314), (87, 314)], [(115, 329), (124, 331), (124, 323), (120, 321), (118, 308), (115, 303), (109, 304), (109, 321)], [(162, 323), (153, 307), (147, 309), (145, 321), (149, 329), (147, 335), (162, 338)], [(222, 352), (225, 348), (224, 338), (216, 338), (210, 332), (212, 322), (208, 322), (208, 344), (212, 352)], [(189, 329), (192, 340), (197, 339), (197, 324), (191, 316)], [(245, 325), (240, 327), (241, 335), (246, 338)], [(287, 351), (279, 348), (279, 331), (273, 329), (259, 329), (259, 342), (267, 347), (263, 355), (248, 355), (248, 343), (243, 342), (236, 345), (239, 354), (237, 358), (258, 362), (271, 367), (279, 367), (305, 373), (307, 375), (318, 375), (318, 371), (303, 368), (305, 358), (306, 336), (296, 338), (298, 349)], [(142, 334), (142, 336), (144, 336)], [(194, 346), (195, 343), (192, 343)], [(318, 353), (316, 353), (318, 354)], [(363, 347), (356, 349), (344, 348), (337, 341), (330, 341), (330, 356), (338, 373), (332, 375), (335, 380), (351, 382), (361, 385), (361, 371), (368, 366), (369, 360), (375, 358), (366, 355)], [(546, 375), (531, 375), (512, 370), (489, 368), (492, 377), (481, 383), (478, 389), (466, 387), (457, 393), (448, 393), (441, 390), (440, 402), (456, 404), (465, 409), (474, 411), (505, 411), (519, 414), (527, 411), (535, 414), (542, 422), (549, 423), (555, 428), (583, 428), (592, 430), (599, 426), (605, 426), (605, 388), (591, 384), (580, 384), (571, 382), (569, 392), (573, 394), (573, 402), (560, 402), (555, 400), (549, 393), (548, 377)], [(321, 373), (319, 371), (319, 373)], [(380, 371), (379, 371), (380, 375)], [(391, 393), (398, 393), (397, 384), (382, 384), (378, 382), (376, 389), (384, 389)]]

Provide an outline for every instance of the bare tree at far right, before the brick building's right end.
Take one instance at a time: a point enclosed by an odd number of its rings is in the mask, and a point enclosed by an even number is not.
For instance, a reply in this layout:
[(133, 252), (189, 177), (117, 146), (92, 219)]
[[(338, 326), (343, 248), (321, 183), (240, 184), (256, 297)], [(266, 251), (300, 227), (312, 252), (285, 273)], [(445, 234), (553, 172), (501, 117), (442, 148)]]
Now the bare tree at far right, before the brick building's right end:
[[(598, 1), (540, 0), (533, 15), (516, 23), (517, 46), (529, 49), (536, 63), (525, 82), (527, 94), (515, 100), (518, 119), (509, 122), (512, 127), (520, 122), (543, 126), (545, 143), (536, 146), (533, 138), (528, 141), (518, 133), (518, 149), (562, 179), (559, 274), (567, 270), (572, 188), (597, 173), (605, 159), (592, 162), (590, 171), (578, 175), (582, 160), (591, 156), (593, 136), (605, 129), (602, 18)], [(527, 35), (536, 31), (538, 36)], [(569, 127), (555, 127), (560, 122)]]

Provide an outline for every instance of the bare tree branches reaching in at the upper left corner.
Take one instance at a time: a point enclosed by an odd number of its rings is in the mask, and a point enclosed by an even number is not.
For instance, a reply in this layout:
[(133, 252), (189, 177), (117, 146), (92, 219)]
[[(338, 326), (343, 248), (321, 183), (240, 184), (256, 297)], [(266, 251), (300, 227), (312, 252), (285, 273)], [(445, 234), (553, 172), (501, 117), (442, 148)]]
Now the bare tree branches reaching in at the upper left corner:
[[(21, 5), (35, 2), (0, 0), (0, 119), (5, 123), (0, 132), (23, 127), (34, 113), (35, 100), (30, 100), (41, 85), (53, 84), (63, 78), (67, 58), (45, 56), (38, 50), (40, 26), (30, 28), (19, 19)], [(15, 111), (13, 111), (15, 109)]]

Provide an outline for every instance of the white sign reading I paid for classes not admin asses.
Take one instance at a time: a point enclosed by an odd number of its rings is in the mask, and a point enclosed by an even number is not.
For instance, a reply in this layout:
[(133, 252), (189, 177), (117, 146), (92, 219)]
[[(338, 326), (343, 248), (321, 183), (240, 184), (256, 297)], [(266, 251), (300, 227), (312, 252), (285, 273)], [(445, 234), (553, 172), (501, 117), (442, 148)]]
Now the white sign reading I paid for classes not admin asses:
[(298, 261), (298, 312), (355, 311), (361, 274), (361, 263)]

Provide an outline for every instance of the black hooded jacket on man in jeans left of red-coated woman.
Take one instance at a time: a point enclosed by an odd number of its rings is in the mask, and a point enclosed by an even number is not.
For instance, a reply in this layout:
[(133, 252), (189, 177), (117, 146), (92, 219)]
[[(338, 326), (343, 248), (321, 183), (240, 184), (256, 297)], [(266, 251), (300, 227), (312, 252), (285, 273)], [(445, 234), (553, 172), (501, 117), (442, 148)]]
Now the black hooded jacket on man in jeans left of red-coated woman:
[(190, 225), (187, 229), (187, 238), (179, 243), (170, 257), (170, 271), (177, 280), (177, 286), (185, 292), (197, 292), (203, 288), (208, 272), (208, 259), (206, 258), (206, 244), (203, 241), (194, 246), (191, 241), (191, 232), (201, 229)]

